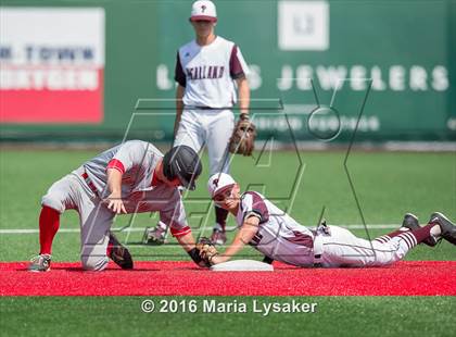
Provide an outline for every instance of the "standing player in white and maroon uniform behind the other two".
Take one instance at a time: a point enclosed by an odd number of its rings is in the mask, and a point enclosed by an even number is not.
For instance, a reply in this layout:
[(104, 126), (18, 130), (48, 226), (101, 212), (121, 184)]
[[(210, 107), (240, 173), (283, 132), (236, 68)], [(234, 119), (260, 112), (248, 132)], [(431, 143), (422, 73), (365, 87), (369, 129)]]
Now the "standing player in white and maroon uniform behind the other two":
[[(232, 108), (239, 96), (240, 118), (249, 120), (250, 89), (248, 66), (233, 42), (215, 35), (217, 14), (212, 1), (195, 1), (190, 23), (195, 39), (179, 48), (175, 79), (176, 121), (174, 146), (186, 145), (197, 152), (207, 146), (210, 174), (229, 172), (228, 143), (235, 127)], [(226, 242), (228, 212), (215, 207), (216, 224), (212, 241)], [(144, 242), (163, 244), (163, 223), (145, 229)]]

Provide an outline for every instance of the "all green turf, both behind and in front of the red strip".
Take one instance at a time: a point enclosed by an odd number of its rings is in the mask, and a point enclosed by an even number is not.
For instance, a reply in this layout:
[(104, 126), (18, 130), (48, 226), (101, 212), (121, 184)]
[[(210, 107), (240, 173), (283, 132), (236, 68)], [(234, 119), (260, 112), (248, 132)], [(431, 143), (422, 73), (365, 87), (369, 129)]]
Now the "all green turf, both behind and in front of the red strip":
[[(40, 198), (56, 179), (97, 154), (93, 151), (0, 152), (0, 229), (38, 227)], [(329, 224), (398, 224), (405, 212), (423, 222), (435, 210), (456, 219), (455, 153), (352, 152), (347, 170), (345, 152), (256, 153), (255, 159), (236, 157), (232, 175), (243, 188), (256, 189), (306, 226), (315, 226), (320, 213)], [(205, 167), (207, 159), (204, 158)], [(211, 234), (214, 222), (205, 183), (186, 196), (186, 210), (194, 234)], [(356, 199), (358, 200), (358, 204)], [(360, 210), (358, 209), (358, 205)], [(156, 216), (119, 216), (115, 227), (138, 232), (119, 233), (136, 260), (188, 260), (170, 244), (140, 245), (142, 228)], [(230, 219), (229, 226), (233, 225)], [(78, 228), (77, 214), (66, 212), (61, 228)], [(373, 228), (356, 235), (371, 238), (391, 229)], [(229, 234), (232, 237), (233, 232)], [(38, 234), (0, 234), (0, 260), (24, 261), (38, 252)], [(430, 249), (419, 246), (407, 260), (455, 260), (454, 246), (442, 242)], [(242, 254), (258, 254), (245, 248)], [(53, 261), (79, 260), (79, 234), (59, 233)], [(325, 282), (325, 280), (322, 280)], [(259, 303), (318, 303), (316, 313), (143, 313), (138, 297), (3, 297), (0, 299), (2, 336), (452, 336), (456, 326), (454, 297), (294, 297), (258, 298)], [(252, 298), (150, 298), (221, 302), (246, 302)], [(249, 304), (250, 303), (250, 304)]]

